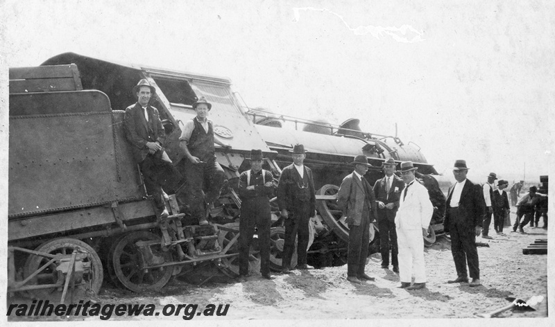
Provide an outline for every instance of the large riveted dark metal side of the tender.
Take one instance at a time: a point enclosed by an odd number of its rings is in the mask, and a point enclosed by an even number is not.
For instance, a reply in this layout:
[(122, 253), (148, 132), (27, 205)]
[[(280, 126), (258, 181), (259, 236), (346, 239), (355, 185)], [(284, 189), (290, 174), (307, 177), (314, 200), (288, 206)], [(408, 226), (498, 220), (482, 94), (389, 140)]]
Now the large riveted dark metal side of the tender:
[(10, 96), (8, 216), (142, 197), (120, 121), (98, 91)]

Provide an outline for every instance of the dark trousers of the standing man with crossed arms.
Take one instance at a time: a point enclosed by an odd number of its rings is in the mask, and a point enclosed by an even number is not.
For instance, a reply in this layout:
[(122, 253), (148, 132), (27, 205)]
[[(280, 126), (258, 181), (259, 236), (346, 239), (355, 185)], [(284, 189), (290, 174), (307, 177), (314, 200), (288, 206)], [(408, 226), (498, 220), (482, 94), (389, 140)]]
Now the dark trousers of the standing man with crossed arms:
[(250, 244), (255, 227), (260, 247), (260, 272), (270, 273), (270, 225), (271, 213), (268, 197), (244, 199), (241, 202), (239, 222), (239, 274), (248, 274)]

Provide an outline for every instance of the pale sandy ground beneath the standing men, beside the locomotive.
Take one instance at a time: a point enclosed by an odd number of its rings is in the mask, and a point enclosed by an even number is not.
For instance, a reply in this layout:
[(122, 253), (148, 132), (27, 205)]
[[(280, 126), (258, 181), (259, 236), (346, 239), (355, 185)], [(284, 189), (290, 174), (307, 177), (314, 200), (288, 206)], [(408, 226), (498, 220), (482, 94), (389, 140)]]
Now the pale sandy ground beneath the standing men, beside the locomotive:
[[(511, 220), (514, 219), (513, 212)], [(154, 303), (157, 308), (169, 303), (198, 303), (199, 306), (208, 303), (230, 304), (225, 318), (194, 317), (195, 321), (200, 319), (223, 323), (224, 319), (473, 318), (475, 314), (506, 306), (510, 303), (506, 297), (526, 301), (533, 296), (541, 299), (538, 297), (541, 296), (543, 300), (538, 304), (537, 311), (509, 310), (498, 317), (547, 317), (547, 256), (522, 254), (523, 247), (538, 238), (547, 238), (547, 231), (531, 227), (524, 228), (526, 234), (511, 233), (511, 227), (506, 227), (505, 231), (506, 236), (497, 236), (493, 232), (492, 240), (477, 238), (477, 241), (489, 245), (478, 247), (482, 285), (477, 288), (470, 288), (468, 284), (446, 283), (448, 279), (456, 277), (456, 272), (450, 242), (438, 238), (434, 246), (425, 249), (427, 288), (412, 292), (398, 288), (398, 274), (382, 269), (379, 254), (373, 254), (366, 265), (366, 272), (375, 276), (376, 281), (364, 285), (353, 285), (346, 281), (347, 267), (343, 266), (295, 270), (289, 275), (276, 274), (273, 281), (262, 279), (261, 276), (250, 276), (245, 283), (208, 282), (196, 286), (173, 279), (160, 292), (151, 294), (134, 294), (105, 283), (93, 300), (102, 304)], [(83, 318), (52, 317), (49, 320), (74, 321)], [(110, 320), (130, 319), (183, 321), (181, 316), (112, 316)], [(15, 320), (8, 317), (8, 321)], [(99, 317), (86, 317), (85, 320), (100, 322)], [(537, 320), (538, 323), (540, 321), (543, 322), (539, 325), (545, 323), (544, 319)]]

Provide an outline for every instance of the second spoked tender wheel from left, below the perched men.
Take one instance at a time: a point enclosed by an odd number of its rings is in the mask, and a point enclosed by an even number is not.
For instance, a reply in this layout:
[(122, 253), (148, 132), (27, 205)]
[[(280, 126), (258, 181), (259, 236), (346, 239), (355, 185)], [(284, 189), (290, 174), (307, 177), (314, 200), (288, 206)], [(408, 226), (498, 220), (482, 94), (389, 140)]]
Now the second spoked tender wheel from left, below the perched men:
[[(133, 292), (160, 290), (171, 279), (173, 267), (142, 269), (143, 257), (135, 245), (141, 240), (160, 242), (160, 237), (148, 231), (134, 231), (119, 239), (110, 258), (114, 274), (123, 286)], [(169, 251), (162, 251), (160, 245), (151, 248), (153, 254), (162, 256), (166, 263), (171, 262)]]

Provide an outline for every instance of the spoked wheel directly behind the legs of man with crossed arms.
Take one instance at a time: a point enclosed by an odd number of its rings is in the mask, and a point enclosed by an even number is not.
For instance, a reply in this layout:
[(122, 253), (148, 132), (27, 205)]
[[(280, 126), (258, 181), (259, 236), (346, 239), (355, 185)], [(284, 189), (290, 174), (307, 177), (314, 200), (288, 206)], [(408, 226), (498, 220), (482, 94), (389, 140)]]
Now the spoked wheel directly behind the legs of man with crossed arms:
[[(224, 224), (223, 226), (237, 229), (237, 232), (224, 231), (223, 229), (220, 230), (218, 240), (222, 249), (227, 247), (231, 240), (233, 240), (237, 233), (239, 233), (239, 222), (230, 222), (229, 224)], [(251, 243), (250, 245), (250, 252), (248, 256), (248, 274), (254, 274), (260, 271), (260, 253), (258, 249), (253, 249), (253, 243)], [(239, 254), (239, 238), (235, 240), (226, 254)], [(223, 274), (229, 276), (230, 278), (235, 278), (239, 276), (239, 256), (221, 258), (220, 269)]]

